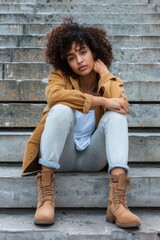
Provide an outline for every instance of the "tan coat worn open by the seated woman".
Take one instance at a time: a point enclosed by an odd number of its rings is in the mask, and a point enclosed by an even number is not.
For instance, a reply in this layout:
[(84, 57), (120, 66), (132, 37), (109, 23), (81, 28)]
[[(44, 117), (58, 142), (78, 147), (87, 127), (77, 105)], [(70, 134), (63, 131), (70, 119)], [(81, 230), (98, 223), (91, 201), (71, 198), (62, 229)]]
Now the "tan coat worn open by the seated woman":
[[(73, 109), (87, 113), (92, 104), (92, 95), (84, 94), (79, 90), (77, 79), (66, 77), (60, 71), (51, 72), (45, 90), (47, 106), (43, 110), (42, 119), (33, 131), (24, 153), (22, 175), (35, 172), (41, 168), (38, 164), (41, 134), (44, 129), (48, 111), (57, 103), (65, 104)], [(98, 81), (98, 95), (106, 98), (124, 97), (123, 82), (111, 73), (104, 75)], [(96, 123), (98, 124), (104, 110), (96, 108)]]

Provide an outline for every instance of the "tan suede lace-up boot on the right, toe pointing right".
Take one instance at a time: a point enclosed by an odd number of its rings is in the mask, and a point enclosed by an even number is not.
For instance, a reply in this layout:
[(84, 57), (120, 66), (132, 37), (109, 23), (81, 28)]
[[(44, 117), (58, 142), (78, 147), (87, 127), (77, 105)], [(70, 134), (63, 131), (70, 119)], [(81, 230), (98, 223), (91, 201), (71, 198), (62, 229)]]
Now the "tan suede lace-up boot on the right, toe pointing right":
[(126, 187), (129, 179), (126, 174), (110, 177), (109, 204), (106, 220), (115, 222), (117, 227), (131, 228), (140, 226), (140, 219), (127, 207)]

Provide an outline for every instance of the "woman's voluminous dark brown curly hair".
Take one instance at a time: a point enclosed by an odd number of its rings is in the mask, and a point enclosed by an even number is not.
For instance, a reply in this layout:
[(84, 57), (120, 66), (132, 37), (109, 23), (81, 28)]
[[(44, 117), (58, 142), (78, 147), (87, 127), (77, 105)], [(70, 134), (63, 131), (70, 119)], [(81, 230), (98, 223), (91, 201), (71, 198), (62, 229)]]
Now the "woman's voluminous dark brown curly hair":
[(71, 18), (65, 19), (62, 24), (53, 28), (46, 36), (46, 61), (55, 70), (61, 70), (67, 76), (75, 77), (75, 73), (67, 62), (67, 54), (73, 42), (90, 48), (95, 60), (101, 59), (109, 68), (112, 60), (112, 46), (107, 39), (107, 33), (98, 27), (83, 26), (73, 22)]

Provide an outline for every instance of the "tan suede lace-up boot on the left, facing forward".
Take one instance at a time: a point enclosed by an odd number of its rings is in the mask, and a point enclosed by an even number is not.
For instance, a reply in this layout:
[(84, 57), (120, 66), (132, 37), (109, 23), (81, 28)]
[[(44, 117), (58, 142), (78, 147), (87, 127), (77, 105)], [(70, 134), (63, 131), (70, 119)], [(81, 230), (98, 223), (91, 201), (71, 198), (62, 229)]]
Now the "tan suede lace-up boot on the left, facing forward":
[(34, 223), (53, 224), (55, 212), (55, 175), (53, 170), (38, 173), (36, 182), (38, 186), (38, 204), (34, 216)]

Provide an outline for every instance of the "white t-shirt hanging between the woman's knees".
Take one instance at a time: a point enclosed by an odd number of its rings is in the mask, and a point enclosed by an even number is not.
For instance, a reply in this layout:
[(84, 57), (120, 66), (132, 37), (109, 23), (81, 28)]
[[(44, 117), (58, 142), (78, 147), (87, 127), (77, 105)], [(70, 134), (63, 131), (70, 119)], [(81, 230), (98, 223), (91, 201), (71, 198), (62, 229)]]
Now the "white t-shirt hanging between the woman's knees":
[(87, 114), (75, 111), (74, 142), (77, 150), (83, 151), (90, 144), (95, 126), (94, 110), (90, 110)]

